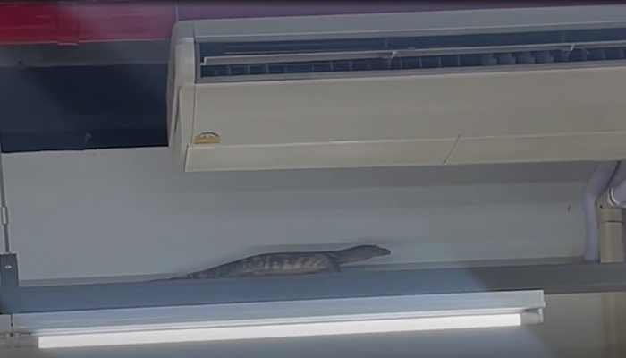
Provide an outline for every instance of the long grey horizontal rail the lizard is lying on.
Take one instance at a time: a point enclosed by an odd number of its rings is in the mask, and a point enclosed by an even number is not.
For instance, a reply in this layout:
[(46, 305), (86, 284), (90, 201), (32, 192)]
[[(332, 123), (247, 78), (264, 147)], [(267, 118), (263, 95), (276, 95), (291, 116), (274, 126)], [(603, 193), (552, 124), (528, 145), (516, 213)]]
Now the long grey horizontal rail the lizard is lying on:
[(528, 289), (543, 289), (546, 294), (626, 291), (626, 263), (22, 286), (5, 294), (0, 306), (6, 314)]

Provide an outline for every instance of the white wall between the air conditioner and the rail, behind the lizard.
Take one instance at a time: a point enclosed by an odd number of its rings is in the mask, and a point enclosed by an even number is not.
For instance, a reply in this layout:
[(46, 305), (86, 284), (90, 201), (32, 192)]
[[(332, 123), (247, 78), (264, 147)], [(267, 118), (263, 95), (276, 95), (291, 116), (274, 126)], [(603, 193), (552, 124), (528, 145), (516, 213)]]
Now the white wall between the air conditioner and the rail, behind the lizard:
[(10, 154), (4, 166), (24, 280), (167, 275), (354, 243), (393, 251), (369, 264), (579, 257), (591, 169), (183, 175), (165, 148)]

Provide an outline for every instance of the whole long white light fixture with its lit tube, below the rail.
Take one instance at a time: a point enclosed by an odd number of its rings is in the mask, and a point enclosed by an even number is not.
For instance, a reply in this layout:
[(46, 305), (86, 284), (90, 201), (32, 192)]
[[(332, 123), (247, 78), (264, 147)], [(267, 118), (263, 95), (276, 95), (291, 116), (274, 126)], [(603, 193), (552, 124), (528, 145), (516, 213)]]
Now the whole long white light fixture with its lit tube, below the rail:
[(336, 336), (543, 321), (543, 291), (378, 296), (145, 309), (21, 313), (39, 348)]

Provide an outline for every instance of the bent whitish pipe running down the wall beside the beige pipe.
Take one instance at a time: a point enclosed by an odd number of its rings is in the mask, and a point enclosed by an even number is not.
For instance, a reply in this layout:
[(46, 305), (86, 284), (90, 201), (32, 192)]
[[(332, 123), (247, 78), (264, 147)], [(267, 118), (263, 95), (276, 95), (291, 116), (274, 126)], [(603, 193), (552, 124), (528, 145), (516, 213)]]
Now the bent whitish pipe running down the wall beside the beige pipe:
[(596, 200), (609, 186), (619, 162), (599, 163), (589, 178), (582, 195), (582, 210), (585, 217), (587, 242), (583, 259), (588, 262), (600, 260), (600, 239), (597, 230)]

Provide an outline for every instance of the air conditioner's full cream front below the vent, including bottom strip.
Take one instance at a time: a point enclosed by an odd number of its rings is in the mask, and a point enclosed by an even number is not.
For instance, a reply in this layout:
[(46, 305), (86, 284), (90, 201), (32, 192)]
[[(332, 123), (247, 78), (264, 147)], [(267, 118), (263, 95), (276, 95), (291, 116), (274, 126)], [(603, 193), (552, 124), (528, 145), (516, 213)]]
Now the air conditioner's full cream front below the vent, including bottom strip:
[[(626, 67), (196, 86), (187, 170), (626, 157)], [(585, 83), (585, 86), (580, 86)]]

